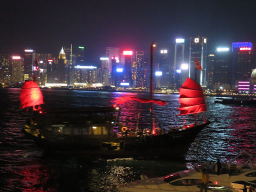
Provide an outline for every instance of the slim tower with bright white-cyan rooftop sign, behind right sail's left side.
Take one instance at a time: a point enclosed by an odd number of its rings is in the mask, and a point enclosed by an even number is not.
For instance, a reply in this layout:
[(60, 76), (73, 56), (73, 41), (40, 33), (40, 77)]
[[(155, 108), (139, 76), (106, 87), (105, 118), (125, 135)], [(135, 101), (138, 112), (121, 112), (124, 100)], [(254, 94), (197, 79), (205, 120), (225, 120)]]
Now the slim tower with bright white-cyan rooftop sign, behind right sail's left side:
[[(185, 39), (176, 38), (175, 47), (174, 47), (174, 65), (171, 67), (171, 75), (174, 79), (174, 88), (179, 88), (183, 83), (182, 76), (185, 76), (187, 69), (181, 69), (181, 65), (184, 63), (184, 48), (185, 48)], [(180, 70), (181, 69), (181, 70)], [(187, 76), (187, 75), (186, 75)]]

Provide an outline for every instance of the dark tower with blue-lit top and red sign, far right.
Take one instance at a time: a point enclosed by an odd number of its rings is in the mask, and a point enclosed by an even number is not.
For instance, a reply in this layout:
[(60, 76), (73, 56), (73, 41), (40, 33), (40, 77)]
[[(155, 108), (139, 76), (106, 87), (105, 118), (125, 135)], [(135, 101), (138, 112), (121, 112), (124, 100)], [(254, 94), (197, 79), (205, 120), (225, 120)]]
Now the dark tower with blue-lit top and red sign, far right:
[(238, 81), (249, 81), (250, 74), (255, 68), (252, 43), (233, 42), (232, 54), (232, 89), (246, 90), (237, 86)]

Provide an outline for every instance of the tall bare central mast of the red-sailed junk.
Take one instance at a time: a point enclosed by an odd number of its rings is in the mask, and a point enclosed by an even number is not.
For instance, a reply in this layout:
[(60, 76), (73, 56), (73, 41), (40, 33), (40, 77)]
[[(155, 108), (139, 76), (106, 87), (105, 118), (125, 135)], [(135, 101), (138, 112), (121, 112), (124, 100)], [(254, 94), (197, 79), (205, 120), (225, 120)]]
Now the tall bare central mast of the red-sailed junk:
[[(153, 99), (153, 49), (155, 48), (154, 42), (150, 45), (150, 99)], [(152, 111), (152, 102), (150, 102), (150, 129), (153, 129), (153, 111)]]

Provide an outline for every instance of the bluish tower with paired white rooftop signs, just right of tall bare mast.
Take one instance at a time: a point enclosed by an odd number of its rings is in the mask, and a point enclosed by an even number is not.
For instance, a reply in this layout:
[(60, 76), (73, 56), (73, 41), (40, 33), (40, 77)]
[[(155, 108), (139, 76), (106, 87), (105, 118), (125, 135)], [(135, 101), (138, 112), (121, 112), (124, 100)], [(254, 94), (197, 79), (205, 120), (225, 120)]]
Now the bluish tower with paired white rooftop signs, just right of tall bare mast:
[(171, 81), (171, 74), (170, 74), (170, 62), (168, 58), (168, 50), (167, 49), (160, 50), (159, 58), (160, 58), (159, 69), (157, 71), (160, 71), (161, 73), (156, 73), (156, 76), (158, 74), (158, 77), (160, 77), (160, 87), (169, 88), (170, 81)]

